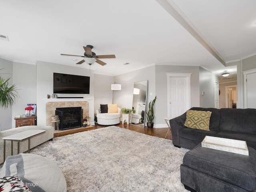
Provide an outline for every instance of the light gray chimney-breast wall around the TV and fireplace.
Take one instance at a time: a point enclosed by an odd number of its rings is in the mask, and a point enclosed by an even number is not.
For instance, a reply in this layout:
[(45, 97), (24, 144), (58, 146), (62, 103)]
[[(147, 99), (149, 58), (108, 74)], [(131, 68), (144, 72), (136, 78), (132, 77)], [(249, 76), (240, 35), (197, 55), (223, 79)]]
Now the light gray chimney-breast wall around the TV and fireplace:
[(53, 94), (53, 73), (64, 73), (81, 76), (90, 76), (90, 94), (58, 94), (58, 96), (71, 96), (71, 97), (84, 97), (90, 98), (89, 102), (89, 114), (91, 121), (94, 119), (94, 71), (89, 73), (88, 69), (78, 68), (74, 66), (66, 66), (55, 63), (48, 63), (43, 61), (37, 62), (37, 124), (46, 124), (46, 108), (45, 100), (47, 95)]

